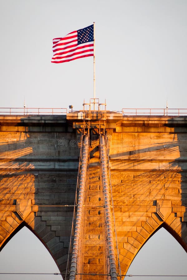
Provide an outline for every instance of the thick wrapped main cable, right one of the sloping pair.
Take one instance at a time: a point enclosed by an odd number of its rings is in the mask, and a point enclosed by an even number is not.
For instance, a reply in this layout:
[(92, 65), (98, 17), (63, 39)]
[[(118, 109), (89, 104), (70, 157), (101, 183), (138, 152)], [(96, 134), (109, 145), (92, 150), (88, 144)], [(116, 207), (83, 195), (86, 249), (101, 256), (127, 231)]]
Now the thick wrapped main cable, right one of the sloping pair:
[(104, 135), (100, 135), (100, 158), (101, 158), (102, 173), (103, 173), (103, 188), (104, 188), (104, 201), (105, 201), (106, 220), (107, 220), (108, 249), (109, 249), (111, 279), (117, 280), (117, 270), (116, 270), (114, 240), (113, 240), (113, 230), (112, 230), (112, 216), (111, 216), (110, 196), (109, 196), (109, 188), (108, 188), (107, 157), (106, 157)]

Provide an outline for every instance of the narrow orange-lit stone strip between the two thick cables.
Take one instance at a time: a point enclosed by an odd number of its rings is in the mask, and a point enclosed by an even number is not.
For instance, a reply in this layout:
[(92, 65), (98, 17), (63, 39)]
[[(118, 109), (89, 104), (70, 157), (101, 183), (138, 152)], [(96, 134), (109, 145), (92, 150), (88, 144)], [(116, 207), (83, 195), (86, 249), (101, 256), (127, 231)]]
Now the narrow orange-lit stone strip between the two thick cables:
[[(100, 170), (98, 167), (89, 167), (88, 189), (85, 191), (84, 216), (81, 242), (83, 242), (83, 252), (80, 254), (83, 259), (83, 273), (106, 274), (106, 239), (104, 235), (105, 225), (103, 224), (103, 190), (100, 180)], [(84, 219), (83, 219), (84, 220)], [(101, 247), (103, 250), (101, 250)], [(82, 276), (87, 279), (88, 275)], [(104, 276), (99, 279), (105, 279)]]

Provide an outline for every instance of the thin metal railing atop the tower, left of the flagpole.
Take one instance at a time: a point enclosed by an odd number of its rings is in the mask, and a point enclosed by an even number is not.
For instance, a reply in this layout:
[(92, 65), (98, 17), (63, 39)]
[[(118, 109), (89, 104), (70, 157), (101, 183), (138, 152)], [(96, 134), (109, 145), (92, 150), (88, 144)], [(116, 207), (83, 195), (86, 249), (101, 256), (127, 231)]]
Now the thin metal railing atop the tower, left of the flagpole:
[(67, 108), (0, 108), (0, 114), (9, 115), (59, 115), (67, 114)]

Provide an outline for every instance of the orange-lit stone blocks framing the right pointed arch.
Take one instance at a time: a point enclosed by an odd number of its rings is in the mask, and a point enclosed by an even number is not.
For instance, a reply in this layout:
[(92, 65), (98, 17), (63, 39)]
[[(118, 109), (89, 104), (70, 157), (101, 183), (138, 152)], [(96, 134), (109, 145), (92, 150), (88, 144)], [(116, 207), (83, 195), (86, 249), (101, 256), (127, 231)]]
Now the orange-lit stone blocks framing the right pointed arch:
[[(125, 239), (125, 242), (121, 246), (123, 248), (119, 249), (119, 260), (123, 274), (127, 272), (140, 249), (161, 227), (164, 227), (187, 252), (186, 223), (181, 222), (180, 217), (176, 217), (175, 213), (171, 213), (165, 222), (161, 221), (156, 213), (152, 213), (151, 217), (146, 217), (146, 221), (141, 222), (141, 226), (136, 226), (136, 231), (123, 232), (122, 238)], [(118, 237), (118, 242), (122, 238)]]

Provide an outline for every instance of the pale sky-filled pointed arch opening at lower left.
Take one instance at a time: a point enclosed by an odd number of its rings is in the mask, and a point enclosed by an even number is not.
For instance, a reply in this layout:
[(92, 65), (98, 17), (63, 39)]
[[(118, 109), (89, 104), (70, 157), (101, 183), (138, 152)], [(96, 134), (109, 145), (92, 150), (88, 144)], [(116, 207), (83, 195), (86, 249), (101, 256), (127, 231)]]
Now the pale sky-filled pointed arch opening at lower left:
[[(61, 280), (57, 264), (41, 240), (26, 224), (18, 226), (17, 230), (6, 240), (0, 252), (1, 273), (3, 280)], [(45, 274), (17, 274), (45, 273)], [(53, 274), (51, 274), (53, 273)]]

